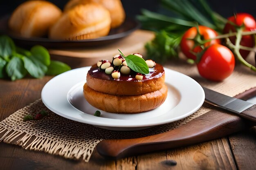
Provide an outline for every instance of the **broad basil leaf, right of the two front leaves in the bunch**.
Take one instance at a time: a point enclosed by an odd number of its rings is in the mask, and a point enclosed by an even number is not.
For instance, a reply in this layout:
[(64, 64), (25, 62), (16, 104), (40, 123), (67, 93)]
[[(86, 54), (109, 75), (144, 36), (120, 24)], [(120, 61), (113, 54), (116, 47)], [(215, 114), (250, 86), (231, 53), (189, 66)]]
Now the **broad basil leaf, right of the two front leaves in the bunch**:
[(35, 78), (41, 78), (47, 71), (47, 66), (42, 64), (36, 57), (23, 57), (24, 66), (29, 74)]

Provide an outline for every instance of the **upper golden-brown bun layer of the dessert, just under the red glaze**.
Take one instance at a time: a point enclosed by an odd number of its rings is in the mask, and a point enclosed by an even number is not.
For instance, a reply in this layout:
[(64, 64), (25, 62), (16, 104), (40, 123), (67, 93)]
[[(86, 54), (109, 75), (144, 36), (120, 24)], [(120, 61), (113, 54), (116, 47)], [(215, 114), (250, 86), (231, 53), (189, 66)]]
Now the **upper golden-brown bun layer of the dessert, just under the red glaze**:
[(110, 95), (144, 95), (161, 89), (164, 85), (164, 78), (165, 74), (162, 77), (148, 79), (143, 82), (128, 82), (100, 79), (87, 73), (86, 82), (94, 91)]

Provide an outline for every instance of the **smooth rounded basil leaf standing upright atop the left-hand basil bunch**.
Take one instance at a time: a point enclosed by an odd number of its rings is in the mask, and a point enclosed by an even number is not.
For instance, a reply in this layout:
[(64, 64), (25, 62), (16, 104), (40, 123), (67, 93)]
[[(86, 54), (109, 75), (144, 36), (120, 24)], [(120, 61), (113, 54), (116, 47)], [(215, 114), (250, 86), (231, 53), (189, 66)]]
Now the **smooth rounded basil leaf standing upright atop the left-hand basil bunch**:
[(50, 65), (50, 55), (47, 49), (45, 47), (36, 45), (31, 48), (31, 56), (35, 57), (37, 60), (39, 60), (42, 64), (45, 66)]

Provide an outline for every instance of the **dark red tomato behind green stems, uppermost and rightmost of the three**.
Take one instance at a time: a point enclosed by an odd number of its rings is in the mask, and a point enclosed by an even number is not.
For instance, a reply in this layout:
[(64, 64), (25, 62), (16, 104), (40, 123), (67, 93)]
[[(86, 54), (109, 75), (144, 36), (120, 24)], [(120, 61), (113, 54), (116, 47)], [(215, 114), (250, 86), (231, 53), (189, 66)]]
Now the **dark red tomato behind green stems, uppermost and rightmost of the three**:
[[(237, 13), (236, 16), (231, 16), (228, 18), (229, 21), (233, 22), (237, 26), (242, 26), (244, 24), (245, 29), (244, 31), (253, 31), (256, 29), (256, 22), (252, 15), (248, 13)], [(224, 33), (229, 32), (236, 32), (236, 28), (229, 24), (225, 25), (225, 28), (223, 30)], [(229, 38), (233, 44), (236, 42), (236, 37), (230, 37)], [(244, 35), (242, 37), (242, 40), (240, 42), (241, 46), (248, 46), (248, 47), (254, 47), (254, 38), (252, 35)], [(243, 58), (246, 58), (250, 51), (247, 50), (240, 50), (240, 54), (243, 56)]]

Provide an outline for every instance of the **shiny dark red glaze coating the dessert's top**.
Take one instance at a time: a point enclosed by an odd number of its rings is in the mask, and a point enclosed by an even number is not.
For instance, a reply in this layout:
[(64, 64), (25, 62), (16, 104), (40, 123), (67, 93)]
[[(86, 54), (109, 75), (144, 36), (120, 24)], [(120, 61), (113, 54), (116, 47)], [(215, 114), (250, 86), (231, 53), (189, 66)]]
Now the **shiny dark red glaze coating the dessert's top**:
[(131, 71), (130, 75), (124, 75), (121, 73), (121, 76), (119, 79), (113, 79), (111, 75), (106, 74), (104, 71), (100, 71), (97, 64), (93, 65), (88, 73), (92, 77), (100, 78), (100, 79), (107, 79), (107, 80), (114, 80), (114, 81), (128, 81), (128, 82), (143, 82), (148, 79), (154, 79), (162, 77), (164, 74), (164, 68), (160, 64), (156, 64), (155, 68), (149, 68), (149, 74), (143, 75), (142, 80), (137, 80), (135, 78), (136, 74), (134, 71)]

